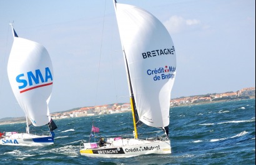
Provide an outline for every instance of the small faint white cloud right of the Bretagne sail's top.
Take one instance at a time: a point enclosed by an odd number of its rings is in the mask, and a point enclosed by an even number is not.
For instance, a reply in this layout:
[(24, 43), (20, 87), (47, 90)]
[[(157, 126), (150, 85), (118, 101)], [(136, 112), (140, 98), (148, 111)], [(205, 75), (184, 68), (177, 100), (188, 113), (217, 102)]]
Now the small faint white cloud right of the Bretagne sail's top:
[(190, 31), (194, 29), (201, 29), (203, 26), (198, 19), (184, 19), (181, 16), (172, 16), (164, 22), (167, 30), (174, 34), (182, 31)]

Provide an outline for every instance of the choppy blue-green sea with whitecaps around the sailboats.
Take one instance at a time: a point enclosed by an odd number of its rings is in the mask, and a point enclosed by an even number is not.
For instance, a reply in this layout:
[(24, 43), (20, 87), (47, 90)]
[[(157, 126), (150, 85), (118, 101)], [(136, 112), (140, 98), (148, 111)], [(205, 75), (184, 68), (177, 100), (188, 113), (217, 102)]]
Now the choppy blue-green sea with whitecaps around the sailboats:
[[(92, 121), (106, 138), (132, 134), (129, 112), (55, 120), (53, 145), (0, 146), (0, 164), (255, 164), (255, 99), (171, 108), (172, 154), (81, 156), (79, 145), (89, 139)], [(24, 127), (24, 123), (0, 125), (0, 131), (24, 131)], [(151, 129), (146, 136), (158, 133), (162, 131)]]

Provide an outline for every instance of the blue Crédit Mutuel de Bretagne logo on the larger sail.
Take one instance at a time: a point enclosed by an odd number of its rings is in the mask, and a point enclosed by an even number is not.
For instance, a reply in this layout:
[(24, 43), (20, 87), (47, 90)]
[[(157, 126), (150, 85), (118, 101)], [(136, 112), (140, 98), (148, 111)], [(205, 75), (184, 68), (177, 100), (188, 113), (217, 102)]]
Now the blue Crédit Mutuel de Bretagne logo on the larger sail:
[(154, 70), (148, 69), (147, 75), (152, 76), (154, 81), (172, 79), (175, 77), (175, 70), (176, 67), (165, 65), (164, 67), (155, 68)]

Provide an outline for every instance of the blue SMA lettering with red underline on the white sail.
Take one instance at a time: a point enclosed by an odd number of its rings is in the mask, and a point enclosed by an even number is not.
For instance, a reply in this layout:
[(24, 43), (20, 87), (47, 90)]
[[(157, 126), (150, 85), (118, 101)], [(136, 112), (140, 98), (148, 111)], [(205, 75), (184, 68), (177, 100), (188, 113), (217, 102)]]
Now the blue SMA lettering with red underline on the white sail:
[[(44, 75), (42, 75), (40, 69), (37, 69), (34, 73), (30, 71), (27, 72), (26, 75), (24, 75), (24, 73), (21, 73), (16, 77), (16, 82), (21, 83), (21, 85), (19, 85), (19, 93), (27, 92), (28, 90), (32, 90), (35, 88), (45, 87), (47, 85), (52, 85), (52, 82), (47, 83), (48, 81), (52, 81), (52, 73), (49, 67), (45, 68)], [(39, 85), (39, 83), (43, 84)]]

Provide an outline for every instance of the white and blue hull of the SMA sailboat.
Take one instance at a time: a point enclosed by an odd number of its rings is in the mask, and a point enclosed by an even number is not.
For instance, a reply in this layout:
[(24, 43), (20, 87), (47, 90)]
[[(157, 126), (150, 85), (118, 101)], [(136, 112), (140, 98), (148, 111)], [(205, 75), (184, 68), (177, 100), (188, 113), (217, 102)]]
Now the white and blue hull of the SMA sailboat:
[(7, 134), (0, 138), (0, 145), (9, 146), (47, 146), (54, 144), (54, 137), (51, 135), (36, 135), (27, 133)]

